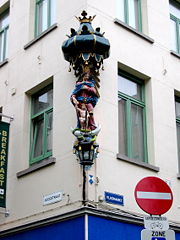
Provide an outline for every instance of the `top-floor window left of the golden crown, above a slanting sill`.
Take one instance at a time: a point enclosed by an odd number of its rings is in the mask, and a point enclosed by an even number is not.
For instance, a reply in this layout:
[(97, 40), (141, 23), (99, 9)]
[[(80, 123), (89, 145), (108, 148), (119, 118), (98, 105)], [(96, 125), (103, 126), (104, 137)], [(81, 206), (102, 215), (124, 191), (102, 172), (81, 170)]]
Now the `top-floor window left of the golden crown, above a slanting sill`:
[(55, 23), (55, 0), (36, 0), (35, 35), (47, 30)]

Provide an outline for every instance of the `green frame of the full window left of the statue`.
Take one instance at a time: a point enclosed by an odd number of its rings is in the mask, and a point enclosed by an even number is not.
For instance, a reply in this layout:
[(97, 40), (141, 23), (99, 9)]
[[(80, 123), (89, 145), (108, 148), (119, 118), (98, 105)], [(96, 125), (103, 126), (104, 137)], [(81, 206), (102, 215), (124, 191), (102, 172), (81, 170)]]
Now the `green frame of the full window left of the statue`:
[[(46, 86), (42, 90), (33, 94), (31, 97), (31, 127), (30, 127), (31, 134), (30, 134), (30, 161), (29, 161), (30, 165), (52, 156), (52, 150), (51, 151), (47, 150), (47, 133), (48, 133), (48, 114), (53, 113), (53, 105), (47, 107), (46, 109), (44, 109), (36, 114), (33, 114), (34, 98), (37, 96), (40, 96), (43, 93), (48, 92), (51, 89), (53, 89), (53, 84)], [(34, 151), (35, 151), (35, 143), (36, 143), (36, 139), (37, 139), (36, 138), (36, 134), (37, 134), (36, 121), (38, 121), (39, 118), (42, 118), (42, 120), (43, 120), (42, 154), (37, 157), (33, 157)]]

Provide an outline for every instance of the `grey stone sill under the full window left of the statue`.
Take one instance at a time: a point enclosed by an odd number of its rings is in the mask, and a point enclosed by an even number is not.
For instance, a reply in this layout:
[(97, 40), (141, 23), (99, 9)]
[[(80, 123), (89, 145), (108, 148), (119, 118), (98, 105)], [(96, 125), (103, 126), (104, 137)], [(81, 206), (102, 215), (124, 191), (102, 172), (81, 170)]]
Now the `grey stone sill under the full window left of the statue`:
[(41, 168), (55, 164), (55, 162), (56, 162), (56, 158), (53, 158), (53, 157), (47, 158), (45, 160), (42, 160), (38, 163), (33, 164), (32, 166), (30, 166), (29, 168), (27, 168), (25, 170), (18, 172), (16, 174), (16, 176), (17, 176), (17, 178), (24, 177), (24, 176), (28, 175), (29, 173), (35, 172)]

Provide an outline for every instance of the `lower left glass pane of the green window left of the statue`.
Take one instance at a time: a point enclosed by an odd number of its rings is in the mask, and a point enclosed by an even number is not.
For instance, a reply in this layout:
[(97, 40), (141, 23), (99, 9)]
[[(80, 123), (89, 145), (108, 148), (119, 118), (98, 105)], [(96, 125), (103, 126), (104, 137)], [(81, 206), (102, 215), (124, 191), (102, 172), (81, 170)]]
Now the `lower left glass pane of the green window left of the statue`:
[(34, 120), (33, 158), (39, 157), (43, 154), (43, 125), (44, 121), (42, 118)]

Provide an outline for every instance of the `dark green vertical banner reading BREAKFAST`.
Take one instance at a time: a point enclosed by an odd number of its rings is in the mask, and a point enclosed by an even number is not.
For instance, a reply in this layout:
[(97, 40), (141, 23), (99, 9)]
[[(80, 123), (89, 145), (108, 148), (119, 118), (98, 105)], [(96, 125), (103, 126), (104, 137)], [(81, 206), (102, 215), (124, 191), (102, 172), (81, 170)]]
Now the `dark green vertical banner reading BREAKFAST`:
[(0, 122), (0, 207), (6, 208), (9, 123)]

